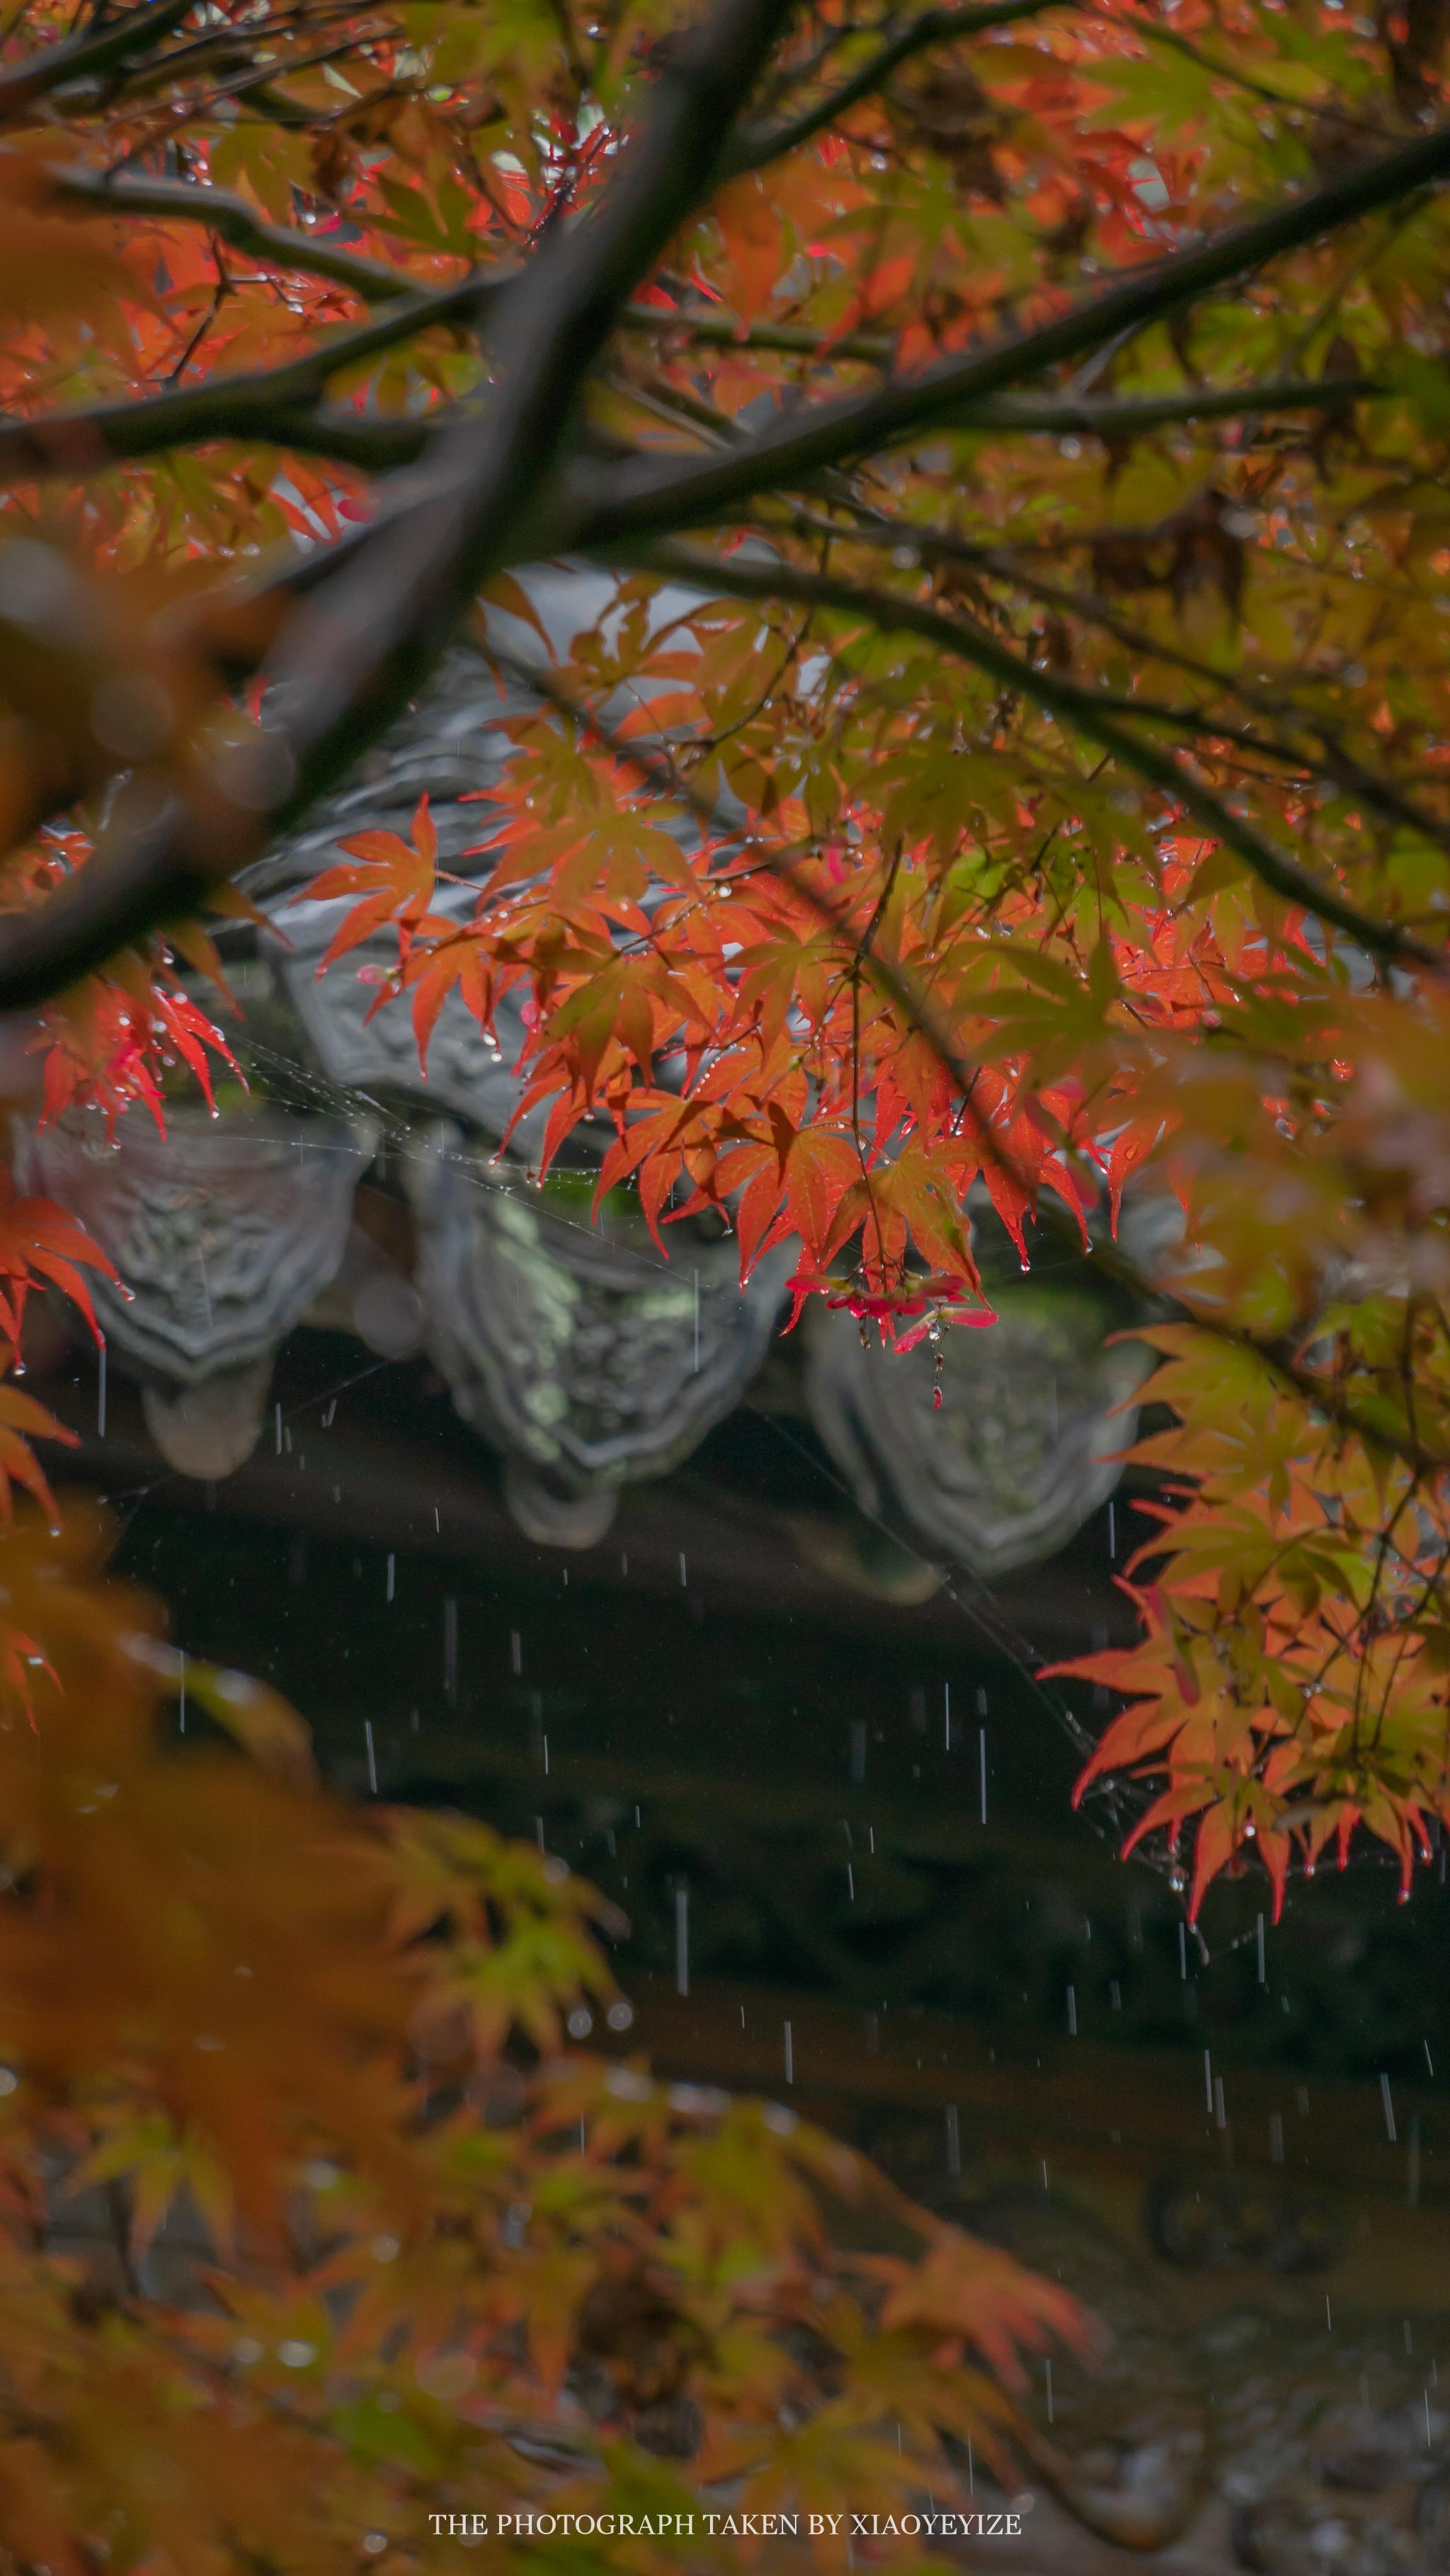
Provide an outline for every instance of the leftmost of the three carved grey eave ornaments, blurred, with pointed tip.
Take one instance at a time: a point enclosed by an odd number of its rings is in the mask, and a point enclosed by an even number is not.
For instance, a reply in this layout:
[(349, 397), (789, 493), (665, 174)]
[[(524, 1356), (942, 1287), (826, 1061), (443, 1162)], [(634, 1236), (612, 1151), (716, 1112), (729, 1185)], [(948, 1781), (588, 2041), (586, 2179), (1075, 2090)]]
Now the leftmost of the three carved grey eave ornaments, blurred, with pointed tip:
[(258, 1437), (273, 1355), (335, 1275), (373, 1133), (273, 1108), (134, 1110), (106, 1139), (70, 1115), (23, 1146), (26, 1182), (95, 1236), (129, 1298), (93, 1278), (108, 1350), (142, 1378), (162, 1455), (227, 1476)]

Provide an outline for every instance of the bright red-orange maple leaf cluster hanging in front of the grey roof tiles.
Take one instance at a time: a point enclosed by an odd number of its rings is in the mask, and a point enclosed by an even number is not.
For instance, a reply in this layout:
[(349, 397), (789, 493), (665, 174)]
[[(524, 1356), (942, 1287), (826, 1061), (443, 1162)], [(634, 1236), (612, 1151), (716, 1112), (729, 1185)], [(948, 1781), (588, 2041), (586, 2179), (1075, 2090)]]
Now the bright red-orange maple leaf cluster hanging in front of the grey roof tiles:
[[(878, 904), (871, 858), (780, 871), (701, 835), (688, 848), (616, 762), (572, 757), (551, 726), (525, 732), (489, 799), (497, 829), (474, 855), (492, 868), (471, 920), (430, 909), (422, 801), (410, 842), (355, 835), (350, 866), (309, 886), (353, 896), (319, 971), (397, 927), (397, 966), (363, 971), (379, 976), (373, 1010), (412, 997), (422, 1064), (451, 994), (489, 1033), (505, 994), (523, 994), (515, 1126), (549, 1105), (538, 1172), (608, 1115), (595, 1195), (634, 1182), (662, 1249), (664, 1224), (711, 1211), (739, 1239), (742, 1280), (798, 1242), (798, 1298), (824, 1293), (883, 1327), (992, 1321), (963, 1218), (974, 1180), (1022, 1262), (1038, 1193), (1056, 1190), (1082, 1224), (1089, 1185), (1071, 1159), (1071, 1084), (1022, 1103), (984, 1069), (963, 1118), (930, 1038), (873, 989), (868, 935), (912, 963), (930, 938), (907, 909), (930, 896), (922, 871), (901, 866), (899, 902)], [(845, 1247), (855, 1260), (837, 1280)]]

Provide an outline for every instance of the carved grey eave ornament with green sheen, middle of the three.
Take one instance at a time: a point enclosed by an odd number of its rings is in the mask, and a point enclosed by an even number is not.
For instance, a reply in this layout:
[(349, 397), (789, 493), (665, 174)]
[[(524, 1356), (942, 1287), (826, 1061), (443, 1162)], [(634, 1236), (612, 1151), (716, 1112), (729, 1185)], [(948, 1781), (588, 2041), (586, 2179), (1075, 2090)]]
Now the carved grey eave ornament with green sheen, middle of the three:
[(428, 1347), (453, 1404), (507, 1468), (543, 1546), (595, 1546), (623, 1484), (667, 1476), (742, 1399), (780, 1303), (783, 1262), (742, 1293), (737, 1247), (672, 1262), (494, 1175), (440, 1128), (410, 1164)]

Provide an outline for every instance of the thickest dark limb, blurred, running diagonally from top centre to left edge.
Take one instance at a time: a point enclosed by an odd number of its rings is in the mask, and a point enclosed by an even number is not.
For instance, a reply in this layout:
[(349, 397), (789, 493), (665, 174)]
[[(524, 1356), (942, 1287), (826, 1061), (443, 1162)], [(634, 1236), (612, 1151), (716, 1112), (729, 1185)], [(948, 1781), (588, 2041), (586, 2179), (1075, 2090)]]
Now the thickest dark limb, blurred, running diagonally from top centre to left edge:
[[(49, 999), (126, 940), (196, 909), (391, 724), (474, 592), (505, 556), (531, 551), (520, 533), (569, 438), (579, 384), (636, 283), (713, 185), (788, 8), (721, 0), (667, 59), (598, 206), (574, 229), (551, 232), (525, 278), (497, 299), (497, 381), (479, 415), (443, 440), (438, 479), (294, 605), (268, 662), (268, 729), (209, 755), (165, 804), (160, 781), (142, 775), (95, 858), (44, 904), (0, 922), (0, 1010)], [(476, 289), (464, 283), (402, 307), (402, 327), (469, 294)], [(340, 345), (355, 355), (397, 335), (386, 314), (299, 363), (332, 374), (345, 363)]]

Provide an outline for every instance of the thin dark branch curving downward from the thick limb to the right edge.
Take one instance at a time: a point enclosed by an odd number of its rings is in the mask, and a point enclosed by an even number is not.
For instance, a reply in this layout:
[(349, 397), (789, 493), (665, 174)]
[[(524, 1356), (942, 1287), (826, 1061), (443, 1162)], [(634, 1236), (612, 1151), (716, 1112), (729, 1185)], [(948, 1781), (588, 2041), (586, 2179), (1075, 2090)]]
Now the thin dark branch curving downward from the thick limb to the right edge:
[(1077, 688), (1071, 680), (1059, 680), (1053, 672), (1033, 670), (1020, 654), (1010, 652), (986, 626), (966, 616), (943, 616), (937, 608), (927, 608), (917, 600), (901, 600), (891, 590), (871, 590), (855, 582), (834, 580), (822, 572), (798, 572), (793, 564), (744, 564), (739, 556), (729, 562), (713, 554), (698, 554), (690, 546), (639, 546), (628, 551), (628, 562), (636, 569), (662, 572), (672, 582), (685, 582), (690, 590), (701, 590), (708, 598), (724, 595), (737, 600), (796, 600), (801, 608), (832, 608), (840, 616), (860, 618), (883, 634), (914, 634), (922, 641), (935, 644), (937, 652), (956, 654), (984, 670), (999, 688), (1012, 688), (1022, 698), (1033, 698), (1043, 714), (1053, 716), (1059, 724), (1089, 742), (1097, 742), (1102, 752), (1120, 760), (1125, 768), (1146, 778), (1149, 786), (1162, 788), (1174, 804), (1192, 814), (1203, 829), (1234, 850), (1244, 860), (1252, 876), (1259, 878), (1270, 894), (1295, 909), (1311, 912), (1316, 920), (1329, 922), (1342, 930), (1380, 963), (1414, 963), (1435, 976), (1450, 971), (1450, 958), (1437, 948), (1424, 948), (1417, 938), (1396, 930), (1393, 922), (1375, 922), (1370, 914), (1360, 912), (1344, 896), (1334, 894), (1332, 886), (1319, 884), (1298, 860), (1275, 850), (1241, 814), (1234, 814), (1213, 788), (1203, 786), (1190, 770), (1185, 770), (1172, 752), (1159, 750), (1156, 742), (1144, 742), (1125, 732), (1118, 716), (1102, 714), (1095, 693), (1089, 688)]

